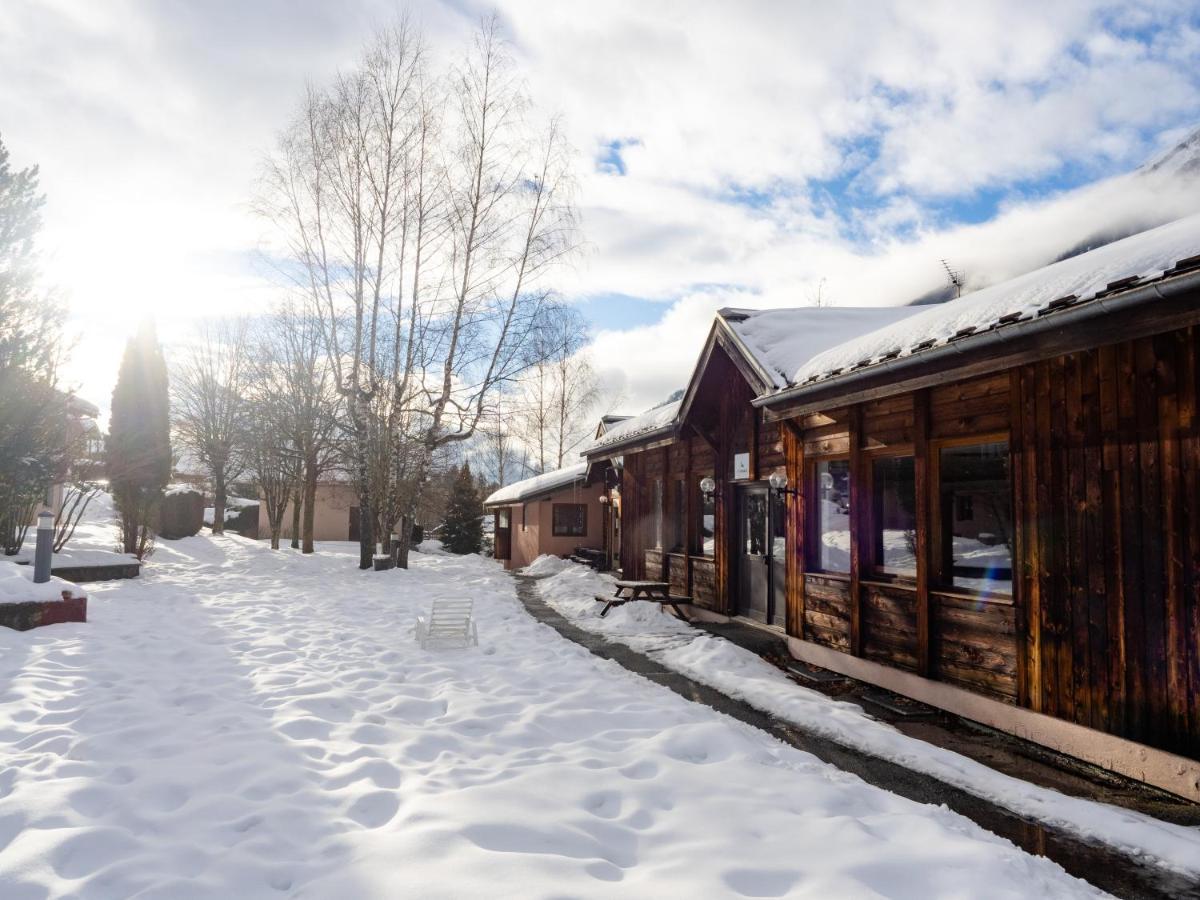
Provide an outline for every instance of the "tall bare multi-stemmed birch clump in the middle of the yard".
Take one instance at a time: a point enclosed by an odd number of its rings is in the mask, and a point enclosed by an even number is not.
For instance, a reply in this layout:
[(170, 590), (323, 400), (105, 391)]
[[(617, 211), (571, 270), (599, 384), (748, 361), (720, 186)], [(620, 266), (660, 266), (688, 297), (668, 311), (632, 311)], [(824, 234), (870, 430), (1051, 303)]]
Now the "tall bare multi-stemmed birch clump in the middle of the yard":
[(494, 18), (445, 78), (402, 20), (308, 89), (264, 175), (342, 397), (364, 568), (391, 529), (407, 563), (440, 451), (528, 366), (541, 282), (575, 246), (560, 131), (538, 134), (527, 110)]

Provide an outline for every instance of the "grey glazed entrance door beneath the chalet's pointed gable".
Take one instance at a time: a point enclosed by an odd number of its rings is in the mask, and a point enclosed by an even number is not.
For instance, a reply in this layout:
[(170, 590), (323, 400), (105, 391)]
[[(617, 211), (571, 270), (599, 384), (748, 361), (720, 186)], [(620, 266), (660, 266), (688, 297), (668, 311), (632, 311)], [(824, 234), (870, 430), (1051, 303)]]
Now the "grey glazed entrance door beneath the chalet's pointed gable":
[(767, 485), (738, 488), (737, 614), (786, 626), (786, 504)]

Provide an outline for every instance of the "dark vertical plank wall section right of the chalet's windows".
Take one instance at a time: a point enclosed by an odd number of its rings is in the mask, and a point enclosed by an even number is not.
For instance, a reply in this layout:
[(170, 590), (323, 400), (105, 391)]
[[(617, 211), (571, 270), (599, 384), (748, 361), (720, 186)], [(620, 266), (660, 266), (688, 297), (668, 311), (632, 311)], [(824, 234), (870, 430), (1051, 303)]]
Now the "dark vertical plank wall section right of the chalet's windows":
[(1022, 366), (1013, 448), (1033, 709), (1200, 755), (1195, 329)]

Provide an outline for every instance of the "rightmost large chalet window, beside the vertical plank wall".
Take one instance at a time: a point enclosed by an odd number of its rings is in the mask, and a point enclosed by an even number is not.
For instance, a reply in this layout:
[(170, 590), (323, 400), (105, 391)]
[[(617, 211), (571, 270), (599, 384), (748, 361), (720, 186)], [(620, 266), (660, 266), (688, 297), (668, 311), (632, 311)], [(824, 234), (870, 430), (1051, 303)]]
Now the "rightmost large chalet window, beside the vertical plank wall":
[(938, 454), (941, 557), (949, 587), (1013, 593), (1013, 492), (1008, 443), (944, 446)]

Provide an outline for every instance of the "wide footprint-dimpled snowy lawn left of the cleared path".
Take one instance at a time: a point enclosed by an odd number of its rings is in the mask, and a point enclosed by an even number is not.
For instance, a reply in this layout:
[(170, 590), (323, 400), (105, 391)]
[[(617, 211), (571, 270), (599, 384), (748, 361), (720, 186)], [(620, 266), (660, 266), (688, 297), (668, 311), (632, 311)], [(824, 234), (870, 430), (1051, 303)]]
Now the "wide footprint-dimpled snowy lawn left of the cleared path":
[[(1096, 894), (593, 656), (492, 560), (355, 558), (163, 541), (88, 624), (0, 629), (0, 896)], [(479, 648), (418, 648), (438, 596)]]

